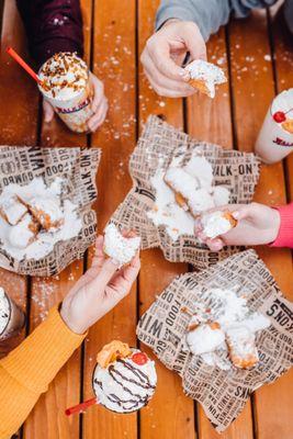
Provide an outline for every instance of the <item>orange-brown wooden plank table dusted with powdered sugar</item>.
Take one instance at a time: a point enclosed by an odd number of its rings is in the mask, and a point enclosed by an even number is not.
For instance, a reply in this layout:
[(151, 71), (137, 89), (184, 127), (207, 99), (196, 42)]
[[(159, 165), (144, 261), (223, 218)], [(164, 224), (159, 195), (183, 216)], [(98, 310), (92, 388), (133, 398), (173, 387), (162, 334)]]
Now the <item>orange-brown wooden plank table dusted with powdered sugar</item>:
[[(12, 45), (26, 54), (14, 0), (4, 0), (2, 48)], [(275, 92), (292, 86), (293, 66), (284, 29), (275, 10), (256, 12), (235, 21), (209, 42), (209, 56), (228, 70), (229, 82), (215, 100), (194, 95), (169, 100), (156, 95), (139, 64), (139, 54), (154, 27), (158, 0), (81, 0), (86, 58), (104, 81), (110, 101), (106, 123), (92, 136), (74, 135), (57, 120), (42, 121), (40, 97), (33, 81), (2, 53), (0, 68), (0, 143), (3, 145), (101, 147), (99, 170), (99, 230), (131, 188), (128, 156), (148, 114), (160, 114), (191, 135), (227, 148), (252, 150), (262, 119)], [(290, 201), (293, 195), (293, 157), (263, 167), (256, 200), (267, 204)], [(291, 252), (259, 248), (281, 289), (293, 299)], [(91, 251), (53, 279), (24, 278), (0, 270), (0, 283), (27, 314), (26, 334), (68, 292), (90, 264)], [(116, 416), (100, 407), (66, 418), (64, 409), (92, 396), (91, 373), (99, 349), (113, 338), (136, 344), (135, 326), (171, 279), (188, 270), (169, 263), (159, 250), (144, 251), (139, 279), (133, 292), (89, 333), (84, 345), (58, 373), (42, 396), (19, 437), (25, 439), (213, 439), (218, 435), (202, 408), (185, 397), (180, 379), (158, 363), (159, 384), (149, 406), (138, 414)], [(19, 344), (13, 340), (1, 353)], [(277, 383), (260, 389), (224, 439), (292, 439), (293, 370)]]

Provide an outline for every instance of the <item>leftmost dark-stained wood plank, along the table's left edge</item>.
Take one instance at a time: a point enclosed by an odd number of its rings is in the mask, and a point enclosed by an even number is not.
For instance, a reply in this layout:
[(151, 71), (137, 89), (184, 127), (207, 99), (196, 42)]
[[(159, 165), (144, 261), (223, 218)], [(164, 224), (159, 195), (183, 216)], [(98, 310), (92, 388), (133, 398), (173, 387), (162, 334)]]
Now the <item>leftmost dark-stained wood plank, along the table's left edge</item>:
[[(12, 45), (20, 54), (26, 55), (24, 32), (16, 10), (15, 2), (5, 0), (3, 9), (1, 55), (0, 55), (0, 144), (1, 145), (35, 145), (37, 133), (38, 98), (34, 82), (5, 54), (7, 46)], [(0, 269), (0, 284), (7, 292), (26, 309), (27, 284), (26, 278)], [(1, 354), (18, 346), (20, 337), (1, 344)]]

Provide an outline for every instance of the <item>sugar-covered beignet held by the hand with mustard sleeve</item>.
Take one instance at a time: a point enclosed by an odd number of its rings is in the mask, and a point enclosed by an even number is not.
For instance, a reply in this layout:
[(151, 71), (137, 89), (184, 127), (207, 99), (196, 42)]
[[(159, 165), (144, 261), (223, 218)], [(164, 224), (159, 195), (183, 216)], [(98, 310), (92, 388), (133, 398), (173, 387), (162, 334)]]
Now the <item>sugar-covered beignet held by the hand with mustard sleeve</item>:
[(139, 236), (124, 237), (113, 223), (105, 227), (104, 252), (120, 266), (131, 262), (139, 246)]

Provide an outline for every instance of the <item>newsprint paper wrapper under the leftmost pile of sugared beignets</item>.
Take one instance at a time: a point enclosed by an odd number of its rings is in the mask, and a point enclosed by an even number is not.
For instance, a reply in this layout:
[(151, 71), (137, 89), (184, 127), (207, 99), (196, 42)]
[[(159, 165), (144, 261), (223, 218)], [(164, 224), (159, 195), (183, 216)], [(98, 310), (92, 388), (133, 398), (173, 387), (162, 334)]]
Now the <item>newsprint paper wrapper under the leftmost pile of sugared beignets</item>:
[(48, 185), (60, 177), (66, 180), (61, 199), (78, 206), (82, 227), (78, 236), (59, 241), (46, 257), (16, 260), (0, 243), (0, 267), (20, 274), (50, 277), (83, 257), (95, 240), (97, 215), (91, 204), (97, 200), (95, 175), (101, 151), (98, 148), (0, 147), (0, 192), (10, 183), (25, 185), (43, 177)]

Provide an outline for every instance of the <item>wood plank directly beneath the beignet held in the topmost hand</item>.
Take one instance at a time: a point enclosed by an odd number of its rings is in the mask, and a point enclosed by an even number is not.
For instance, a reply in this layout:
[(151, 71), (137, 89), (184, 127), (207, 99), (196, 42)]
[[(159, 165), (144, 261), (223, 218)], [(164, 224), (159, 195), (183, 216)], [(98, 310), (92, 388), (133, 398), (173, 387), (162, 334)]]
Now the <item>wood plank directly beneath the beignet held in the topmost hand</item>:
[[(207, 43), (207, 58), (223, 67), (228, 77), (225, 30), (212, 36)], [(212, 142), (223, 147), (233, 147), (232, 109), (228, 83), (221, 86), (214, 100), (202, 94), (188, 99), (188, 131), (201, 140)], [(199, 405), (199, 437), (218, 438), (203, 408)], [(252, 439), (251, 404), (247, 403), (244, 412), (233, 425), (221, 435), (225, 439)]]

